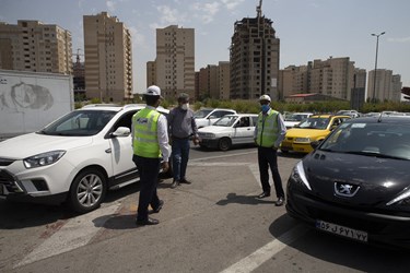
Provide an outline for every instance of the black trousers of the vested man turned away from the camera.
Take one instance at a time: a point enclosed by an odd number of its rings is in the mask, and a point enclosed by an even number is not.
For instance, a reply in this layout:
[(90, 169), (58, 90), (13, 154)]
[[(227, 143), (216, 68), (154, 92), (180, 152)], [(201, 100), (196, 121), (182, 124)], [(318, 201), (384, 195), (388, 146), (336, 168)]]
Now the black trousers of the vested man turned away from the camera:
[(148, 219), (148, 206), (151, 204), (152, 209), (156, 209), (160, 205), (156, 186), (161, 159), (133, 155), (132, 161), (136, 163), (140, 174), (140, 199), (138, 201), (137, 219), (145, 221)]

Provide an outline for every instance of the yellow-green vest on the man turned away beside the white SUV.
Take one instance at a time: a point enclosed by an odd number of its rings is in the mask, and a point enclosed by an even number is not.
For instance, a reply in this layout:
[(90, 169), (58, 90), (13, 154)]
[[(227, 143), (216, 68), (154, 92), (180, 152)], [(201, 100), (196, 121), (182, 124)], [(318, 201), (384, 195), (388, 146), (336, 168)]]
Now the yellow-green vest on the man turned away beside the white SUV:
[(149, 158), (161, 157), (157, 138), (157, 121), (161, 114), (156, 110), (144, 108), (132, 117), (134, 123), (133, 153)]

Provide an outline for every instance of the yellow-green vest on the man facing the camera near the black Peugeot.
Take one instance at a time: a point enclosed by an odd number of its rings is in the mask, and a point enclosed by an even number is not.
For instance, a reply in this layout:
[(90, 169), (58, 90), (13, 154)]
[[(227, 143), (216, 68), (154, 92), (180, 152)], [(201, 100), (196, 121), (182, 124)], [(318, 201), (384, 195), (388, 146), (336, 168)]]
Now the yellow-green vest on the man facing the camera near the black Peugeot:
[(278, 140), (278, 115), (276, 110), (270, 110), (268, 116), (258, 116), (258, 135), (256, 143), (262, 147), (273, 147)]

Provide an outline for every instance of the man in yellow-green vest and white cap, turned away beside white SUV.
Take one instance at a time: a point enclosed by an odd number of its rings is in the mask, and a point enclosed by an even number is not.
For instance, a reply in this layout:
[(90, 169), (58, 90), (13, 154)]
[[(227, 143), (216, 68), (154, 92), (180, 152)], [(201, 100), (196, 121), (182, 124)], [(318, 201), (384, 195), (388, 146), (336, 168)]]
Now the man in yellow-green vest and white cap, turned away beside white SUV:
[(148, 206), (157, 213), (164, 205), (156, 193), (157, 178), (161, 169), (169, 168), (166, 117), (156, 110), (161, 103), (161, 88), (152, 85), (144, 94), (147, 107), (132, 117), (132, 161), (140, 174), (140, 199), (138, 202), (137, 225), (156, 225), (160, 222), (148, 216)]

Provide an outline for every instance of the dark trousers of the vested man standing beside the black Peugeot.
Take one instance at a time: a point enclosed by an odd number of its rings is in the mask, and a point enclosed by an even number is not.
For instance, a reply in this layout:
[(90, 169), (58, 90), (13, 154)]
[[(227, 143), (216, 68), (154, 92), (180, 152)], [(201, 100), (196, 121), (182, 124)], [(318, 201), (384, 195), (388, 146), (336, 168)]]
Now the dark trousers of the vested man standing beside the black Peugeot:
[(281, 179), (281, 176), (279, 175), (279, 169), (278, 169), (277, 150), (271, 149), (271, 147), (258, 146), (258, 163), (259, 163), (260, 183), (262, 185), (263, 192), (270, 193), (270, 185), (269, 185), (269, 167), (270, 167), (277, 197), (284, 198), (282, 179)]

